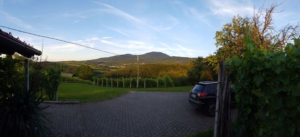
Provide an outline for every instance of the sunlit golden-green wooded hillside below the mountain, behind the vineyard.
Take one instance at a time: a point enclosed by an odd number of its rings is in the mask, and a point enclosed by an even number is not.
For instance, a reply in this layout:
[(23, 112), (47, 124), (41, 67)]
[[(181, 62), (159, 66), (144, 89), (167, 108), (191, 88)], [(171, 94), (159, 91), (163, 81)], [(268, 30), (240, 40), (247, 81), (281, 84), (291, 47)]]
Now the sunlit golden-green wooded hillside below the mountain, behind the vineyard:
[[(210, 81), (217, 79), (217, 71), (212, 68), (208, 60), (214, 56), (198, 57), (189, 59), (186, 63), (156, 63), (139, 64), (139, 78), (169, 77), (174, 86), (193, 85), (200, 81)], [(57, 63), (57, 62), (56, 62)], [(53, 64), (56, 64), (53, 63)], [(63, 64), (64, 73), (73, 73), (83, 80), (92, 81), (94, 78), (136, 78), (137, 64), (127, 67), (120, 65), (104, 66), (84, 62), (59, 62)]]

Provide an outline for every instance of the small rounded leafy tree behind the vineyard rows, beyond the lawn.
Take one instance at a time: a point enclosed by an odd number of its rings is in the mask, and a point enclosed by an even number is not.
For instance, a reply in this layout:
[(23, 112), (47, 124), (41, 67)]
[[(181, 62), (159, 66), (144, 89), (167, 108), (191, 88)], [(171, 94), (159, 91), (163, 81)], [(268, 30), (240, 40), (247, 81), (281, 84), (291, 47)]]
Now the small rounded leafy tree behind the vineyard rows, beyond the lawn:
[(93, 69), (88, 65), (81, 65), (76, 69), (76, 76), (80, 79), (90, 80), (93, 76)]

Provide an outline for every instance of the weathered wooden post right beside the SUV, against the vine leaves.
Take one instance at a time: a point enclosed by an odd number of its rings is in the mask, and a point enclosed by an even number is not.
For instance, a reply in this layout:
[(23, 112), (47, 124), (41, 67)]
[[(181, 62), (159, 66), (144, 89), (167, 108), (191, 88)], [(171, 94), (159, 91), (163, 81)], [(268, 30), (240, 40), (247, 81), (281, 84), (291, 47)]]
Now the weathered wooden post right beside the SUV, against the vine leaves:
[(215, 104), (215, 120), (214, 120), (214, 133), (213, 137), (220, 137), (219, 136), (219, 128), (220, 128), (220, 103), (221, 103), (221, 95), (224, 86), (224, 64), (223, 61), (219, 62), (219, 71), (218, 71), (218, 78), (217, 78), (217, 92), (216, 92), (216, 104)]

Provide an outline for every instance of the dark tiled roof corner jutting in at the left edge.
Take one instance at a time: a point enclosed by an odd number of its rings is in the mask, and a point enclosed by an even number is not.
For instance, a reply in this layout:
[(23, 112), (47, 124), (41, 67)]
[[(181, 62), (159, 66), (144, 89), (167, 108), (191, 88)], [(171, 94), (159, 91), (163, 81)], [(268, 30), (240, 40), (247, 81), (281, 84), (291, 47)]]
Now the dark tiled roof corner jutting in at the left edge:
[(7, 33), (0, 29), (0, 53), (13, 55), (14, 52), (27, 58), (41, 55), (41, 51), (33, 48), (30, 44), (27, 44), (25, 41), (22, 42), (18, 37), (13, 37), (10, 32)]

